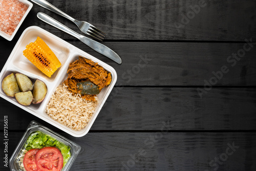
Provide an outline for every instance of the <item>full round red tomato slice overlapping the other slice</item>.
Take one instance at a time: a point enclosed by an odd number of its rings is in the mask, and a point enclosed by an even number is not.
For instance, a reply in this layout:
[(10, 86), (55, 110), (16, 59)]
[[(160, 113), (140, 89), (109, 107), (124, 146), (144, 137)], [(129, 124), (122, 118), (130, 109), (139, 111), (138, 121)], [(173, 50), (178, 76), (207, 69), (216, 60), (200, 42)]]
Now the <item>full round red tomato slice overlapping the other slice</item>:
[(35, 163), (41, 171), (60, 171), (63, 167), (63, 156), (56, 147), (44, 147), (37, 152)]

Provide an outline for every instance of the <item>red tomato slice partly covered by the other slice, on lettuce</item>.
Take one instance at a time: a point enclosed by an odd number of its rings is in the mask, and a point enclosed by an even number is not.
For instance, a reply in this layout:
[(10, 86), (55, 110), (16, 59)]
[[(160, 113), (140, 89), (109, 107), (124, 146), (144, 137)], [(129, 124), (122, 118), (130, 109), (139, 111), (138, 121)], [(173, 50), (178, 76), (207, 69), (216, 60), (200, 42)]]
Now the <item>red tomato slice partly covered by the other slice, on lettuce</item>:
[(27, 171), (39, 171), (35, 163), (35, 156), (39, 149), (30, 149), (23, 159), (23, 165)]

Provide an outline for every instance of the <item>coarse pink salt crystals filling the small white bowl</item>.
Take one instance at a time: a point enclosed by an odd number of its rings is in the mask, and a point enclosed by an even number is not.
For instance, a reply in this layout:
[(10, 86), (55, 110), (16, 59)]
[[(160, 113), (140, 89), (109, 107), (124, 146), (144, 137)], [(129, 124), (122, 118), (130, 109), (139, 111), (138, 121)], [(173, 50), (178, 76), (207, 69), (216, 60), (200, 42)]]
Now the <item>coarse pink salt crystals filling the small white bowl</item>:
[(18, 0), (0, 0), (0, 30), (12, 35), (27, 9)]

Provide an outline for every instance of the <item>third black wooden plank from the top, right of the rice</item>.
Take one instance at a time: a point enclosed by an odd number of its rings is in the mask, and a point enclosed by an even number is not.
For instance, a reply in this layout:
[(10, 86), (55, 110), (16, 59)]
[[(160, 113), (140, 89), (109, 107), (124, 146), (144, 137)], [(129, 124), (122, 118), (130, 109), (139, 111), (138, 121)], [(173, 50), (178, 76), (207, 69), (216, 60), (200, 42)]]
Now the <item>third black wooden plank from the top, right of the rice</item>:
[[(91, 130), (161, 130), (163, 122), (172, 130), (256, 130), (255, 102), (255, 89), (246, 88), (213, 88), (203, 98), (197, 88), (114, 88)], [(0, 103), (9, 130), (25, 130), (31, 120), (58, 130), (2, 98)]]

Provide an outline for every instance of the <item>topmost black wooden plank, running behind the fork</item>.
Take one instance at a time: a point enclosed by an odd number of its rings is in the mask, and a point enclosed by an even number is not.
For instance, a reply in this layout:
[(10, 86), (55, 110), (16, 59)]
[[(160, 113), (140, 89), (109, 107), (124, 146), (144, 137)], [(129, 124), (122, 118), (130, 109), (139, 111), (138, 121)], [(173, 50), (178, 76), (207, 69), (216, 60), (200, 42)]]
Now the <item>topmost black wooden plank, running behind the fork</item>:
[[(49, 2), (72, 17), (85, 20), (103, 30), (107, 33), (106, 39), (244, 41), (245, 38), (252, 37), (255, 41), (256, 38), (256, 2), (253, 0), (49, 0)], [(37, 25), (51, 30), (61, 38), (71, 37), (39, 20), (36, 17), (39, 11), (49, 14), (80, 33), (75, 24), (69, 20), (36, 4), (22, 29)]]

